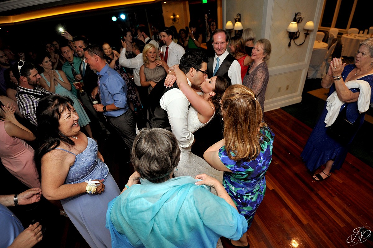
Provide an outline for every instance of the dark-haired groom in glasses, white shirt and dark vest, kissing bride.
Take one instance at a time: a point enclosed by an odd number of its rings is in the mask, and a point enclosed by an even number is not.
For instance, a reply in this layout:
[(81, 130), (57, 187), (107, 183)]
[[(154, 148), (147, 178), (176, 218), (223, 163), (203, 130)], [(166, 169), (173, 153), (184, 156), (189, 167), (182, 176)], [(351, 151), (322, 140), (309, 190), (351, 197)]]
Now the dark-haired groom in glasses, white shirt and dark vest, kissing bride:
[[(185, 73), (189, 86), (199, 88), (207, 76), (207, 57), (202, 51), (188, 51), (181, 57), (179, 69)], [(177, 84), (164, 87), (164, 80), (151, 90), (149, 106), (144, 111), (144, 118), (137, 123), (137, 129), (167, 129), (176, 136), (181, 149), (188, 148), (194, 142), (188, 129), (189, 101)]]

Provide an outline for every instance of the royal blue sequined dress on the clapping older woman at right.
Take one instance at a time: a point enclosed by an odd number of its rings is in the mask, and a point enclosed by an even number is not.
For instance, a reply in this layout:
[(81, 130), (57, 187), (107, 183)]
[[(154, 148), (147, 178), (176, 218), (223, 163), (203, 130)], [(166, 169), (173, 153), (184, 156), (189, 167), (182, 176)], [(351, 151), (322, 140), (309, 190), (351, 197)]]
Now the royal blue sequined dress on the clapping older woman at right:
[[(351, 72), (352, 69), (355, 68), (355, 65), (347, 65), (342, 72), (342, 78), (345, 81), (348, 74)], [(364, 76), (359, 78), (358, 80), (367, 81), (372, 89), (373, 86), (373, 75)], [(352, 92), (359, 92), (359, 88), (350, 89)], [(332, 84), (329, 90), (329, 95), (335, 91), (335, 85)], [(328, 97), (329, 97), (328, 95)], [(373, 102), (373, 93), (370, 95), (370, 103)], [(345, 103), (342, 105), (341, 111), (343, 108), (347, 107), (347, 119), (350, 122), (357, 121), (360, 123), (359, 128), (363, 125), (365, 113), (359, 113), (357, 109), (357, 101), (353, 103)], [(305, 162), (305, 166), (307, 169), (314, 171), (323, 164), (325, 164), (329, 160), (334, 160), (332, 170), (339, 170), (342, 167), (342, 164), (347, 156), (348, 148), (354, 136), (352, 136), (348, 145), (341, 145), (339, 142), (332, 139), (329, 135), (326, 134), (326, 123), (325, 117), (327, 114), (326, 110), (326, 103), (324, 106), (324, 110), (320, 116), (320, 119), (317, 121), (316, 126), (311, 132), (310, 137), (304, 147), (303, 152), (301, 153), (301, 157)]]

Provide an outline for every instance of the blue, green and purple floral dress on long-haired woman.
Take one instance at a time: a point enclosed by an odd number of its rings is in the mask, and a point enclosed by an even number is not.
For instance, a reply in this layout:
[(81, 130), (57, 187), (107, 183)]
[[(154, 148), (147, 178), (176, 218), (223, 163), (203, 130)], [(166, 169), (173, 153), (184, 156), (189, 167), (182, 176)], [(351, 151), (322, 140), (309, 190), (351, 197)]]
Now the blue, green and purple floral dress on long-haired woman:
[[(264, 174), (272, 161), (274, 134), (269, 128), (262, 128), (259, 155), (251, 161), (234, 161), (228, 157), (225, 146), (219, 149), (219, 158), (232, 172), (224, 172), (223, 186), (237, 206), (238, 212), (247, 220), (248, 228), (254, 214), (266, 193)], [(234, 157), (234, 154), (231, 153)]]

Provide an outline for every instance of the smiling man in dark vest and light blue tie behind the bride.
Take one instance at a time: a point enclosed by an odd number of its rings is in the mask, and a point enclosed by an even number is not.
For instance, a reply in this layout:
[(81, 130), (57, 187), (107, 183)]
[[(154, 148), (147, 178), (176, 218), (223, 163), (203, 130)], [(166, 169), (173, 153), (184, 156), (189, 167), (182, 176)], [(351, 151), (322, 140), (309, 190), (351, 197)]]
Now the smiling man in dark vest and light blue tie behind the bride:
[(211, 42), (215, 56), (209, 57), (208, 77), (222, 76), (228, 80), (229, 85), (242, 84), (241, 66), (227, 51), (228, 33), (223, 29), (216, 29), (211, 35)]

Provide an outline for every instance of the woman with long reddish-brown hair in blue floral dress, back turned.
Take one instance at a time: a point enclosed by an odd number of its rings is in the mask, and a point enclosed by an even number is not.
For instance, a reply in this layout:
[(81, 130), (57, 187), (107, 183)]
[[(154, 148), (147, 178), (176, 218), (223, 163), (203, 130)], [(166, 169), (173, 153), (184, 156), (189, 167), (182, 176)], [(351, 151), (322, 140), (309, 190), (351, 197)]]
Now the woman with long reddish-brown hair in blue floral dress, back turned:
[[(254, 92), (244, 85), (228, 87), (220, 103), (224, 139), (207, 149), (204, 158), (224, 172), (223, 186), (250, 228), (266, 192), (264, 174), (272, 160), (275, 135), (262, 121), (263, 112)], [(238, 241), (232, 240), (232, 245), (250, 247), (246, 233)]]

